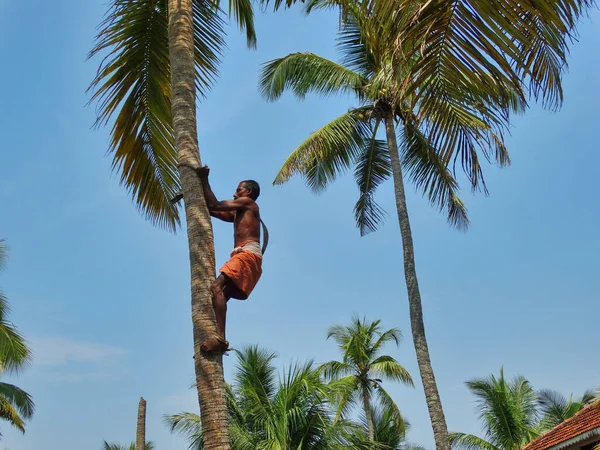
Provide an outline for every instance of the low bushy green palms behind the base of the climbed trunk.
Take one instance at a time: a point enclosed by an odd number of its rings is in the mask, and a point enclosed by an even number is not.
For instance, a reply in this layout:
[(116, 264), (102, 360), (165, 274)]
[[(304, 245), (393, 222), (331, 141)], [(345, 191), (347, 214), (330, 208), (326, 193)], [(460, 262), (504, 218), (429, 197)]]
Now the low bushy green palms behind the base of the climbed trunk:
[[(228, 389), (231, 448), (361, 450), (358, 427), (335, 422), (329, 389), (312, 364), (290, 367), (278, 380), (275, 354), (256, 346), (238, 351), (234, 383)], [(185, 436), (192, 450), (204, 448), (202, 420), (197, 414), (165, 417), (171, 431)]]

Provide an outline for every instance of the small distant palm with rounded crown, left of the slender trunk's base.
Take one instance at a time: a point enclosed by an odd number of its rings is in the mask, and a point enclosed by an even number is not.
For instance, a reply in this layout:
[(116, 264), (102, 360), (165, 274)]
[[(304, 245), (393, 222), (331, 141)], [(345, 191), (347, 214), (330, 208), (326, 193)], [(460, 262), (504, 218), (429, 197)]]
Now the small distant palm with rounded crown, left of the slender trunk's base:
[(336, 325), (329, 329), (327, 338), (333, 338), (340, 350), (342, 361), (330, 361), (320, 367), (338, 399), (338, 417), (354, 404), (362, 404), (367, 423), (369, 441), (375, 441), (371, 398), (377, 395), (379, 402), (394, 417), (399, 431), (403, 430), (402, 414), (396, 403), (382, 386), (382, 380), (399, 381), (414, 386), (408, 371), (394, 358), (381, 355), (388, 342), (399, 345), (402, 333), (396, 328), (382, 331), (379, 320), (362, 321), (353, 317), (348, 326)]

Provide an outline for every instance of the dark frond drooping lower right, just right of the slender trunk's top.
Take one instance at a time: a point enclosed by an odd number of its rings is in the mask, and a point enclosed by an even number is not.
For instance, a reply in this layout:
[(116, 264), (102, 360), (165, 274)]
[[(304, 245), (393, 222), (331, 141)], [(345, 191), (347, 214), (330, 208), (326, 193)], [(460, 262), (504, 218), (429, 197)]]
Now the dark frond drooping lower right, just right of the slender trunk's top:
[(447, 211), (447, 220), (459, 230), (469, 226), (467, 208), (458, 197), (459, 186), (431, 141), (410, 118), (404, 121), (401, 161), (409, 179), (432, 206)]

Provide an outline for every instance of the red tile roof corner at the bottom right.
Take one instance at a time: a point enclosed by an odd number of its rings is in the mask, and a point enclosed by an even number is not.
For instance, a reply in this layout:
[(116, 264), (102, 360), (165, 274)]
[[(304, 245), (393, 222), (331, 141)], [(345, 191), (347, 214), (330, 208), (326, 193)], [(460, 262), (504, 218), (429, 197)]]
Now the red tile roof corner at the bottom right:
[(531, 441), (523, 450), (547, 450), (569, 439), (600, 427), (600, 404), (591, 404), (573, 417), (558, 424), (551, 430)]

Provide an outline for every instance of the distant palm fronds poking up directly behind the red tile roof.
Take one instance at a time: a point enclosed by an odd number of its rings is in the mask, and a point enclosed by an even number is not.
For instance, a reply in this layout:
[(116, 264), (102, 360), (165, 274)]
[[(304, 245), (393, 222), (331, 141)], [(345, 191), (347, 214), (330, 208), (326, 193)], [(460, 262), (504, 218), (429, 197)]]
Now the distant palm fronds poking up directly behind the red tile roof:
[(573, 417), (586, 405), (598, 398), (598, 391), (590, 389), (583, 393), (580, 398), (568, 399), (559, 392), (544, 389), (538, 392), (538, 407), (542, 415), (541, 429), (546, 431), (554, 428), (559, 423)]

